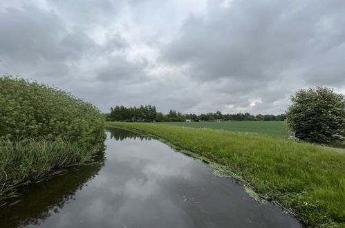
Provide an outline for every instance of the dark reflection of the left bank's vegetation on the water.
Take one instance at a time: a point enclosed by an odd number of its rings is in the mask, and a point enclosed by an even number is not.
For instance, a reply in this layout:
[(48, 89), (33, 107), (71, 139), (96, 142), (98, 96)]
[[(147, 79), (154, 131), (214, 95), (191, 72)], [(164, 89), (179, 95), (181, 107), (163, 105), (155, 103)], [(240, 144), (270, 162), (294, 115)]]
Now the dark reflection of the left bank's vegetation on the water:
[(104, 151), (100, 151), (95, 156), (94, 164), (71, 169), (53, 179), (24, 187), (19, 192), (20, 202), (10, 206), (18, 200), (12, 198), (8, 205), (0, 208), (0, 227), (40, 225), (49, 216), (59, 213), (68, 202), (75, 200), (77, 191), (95, 178), (104, 166), (104, 160)]

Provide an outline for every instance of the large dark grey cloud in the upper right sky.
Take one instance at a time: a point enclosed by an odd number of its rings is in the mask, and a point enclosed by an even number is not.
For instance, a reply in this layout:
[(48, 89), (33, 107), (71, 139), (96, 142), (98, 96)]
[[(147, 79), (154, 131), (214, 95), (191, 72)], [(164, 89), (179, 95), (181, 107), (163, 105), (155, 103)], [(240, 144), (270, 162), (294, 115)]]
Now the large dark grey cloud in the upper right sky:
[[(327, 61), (321, 47), (329, 50), (344, 41), (339, 39), (344, 37), (344, 12), (344, 1), (234, 0), (231, 7), (213, 8), (207, 17), (187, 19), (162, 58), (188, 63), (195, 79), (270, 80), (287, 68)], [(337, 22), (323, 26), (330, 18)], [(318, 33), (327, 35), (315, 37)]]

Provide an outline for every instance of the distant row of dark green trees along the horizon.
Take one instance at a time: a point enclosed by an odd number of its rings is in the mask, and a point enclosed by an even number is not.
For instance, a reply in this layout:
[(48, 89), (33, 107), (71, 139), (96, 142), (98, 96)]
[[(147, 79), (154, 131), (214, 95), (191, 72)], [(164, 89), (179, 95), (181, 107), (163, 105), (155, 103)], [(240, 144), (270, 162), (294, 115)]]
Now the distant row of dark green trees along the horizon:
[(223, 114), (221, 111), (216, 113), (203, 113), (196, 115), (194, 113), (183, 114), (178, 111), (170, 110), (169, 113), (164, 114), (157, 112), (156, 106), (115, 106), (111, 107), (110, 113), (104, 114), (107, 121), (120, 121), (120, 122), (185, 122), (186, 120), (198, 121), (272, 121), (286, 120), (285, 114), (280, 115), (251, 115), (250, 113), (237, 113), (237, 114)]

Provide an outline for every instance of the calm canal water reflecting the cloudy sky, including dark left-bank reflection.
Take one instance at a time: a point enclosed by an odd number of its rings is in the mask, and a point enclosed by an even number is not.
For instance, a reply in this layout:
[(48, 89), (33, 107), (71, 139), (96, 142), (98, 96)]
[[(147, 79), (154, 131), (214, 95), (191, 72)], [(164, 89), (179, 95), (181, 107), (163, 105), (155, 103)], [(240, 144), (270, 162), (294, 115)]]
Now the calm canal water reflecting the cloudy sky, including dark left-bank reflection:
[(26, 187), (0, 227), (301, 227), (158, 140), (107, 134), (99, 164)]

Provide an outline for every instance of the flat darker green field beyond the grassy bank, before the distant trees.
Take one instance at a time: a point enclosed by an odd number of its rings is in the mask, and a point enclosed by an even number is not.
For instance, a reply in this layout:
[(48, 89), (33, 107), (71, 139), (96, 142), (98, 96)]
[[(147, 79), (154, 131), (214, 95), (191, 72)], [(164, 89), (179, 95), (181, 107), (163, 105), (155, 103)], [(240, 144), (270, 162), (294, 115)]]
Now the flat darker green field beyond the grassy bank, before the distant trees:
[(233, 132), (263, 133), (285, 138), (290, 135), (284, 121), (163, 122), (162, 124)]

